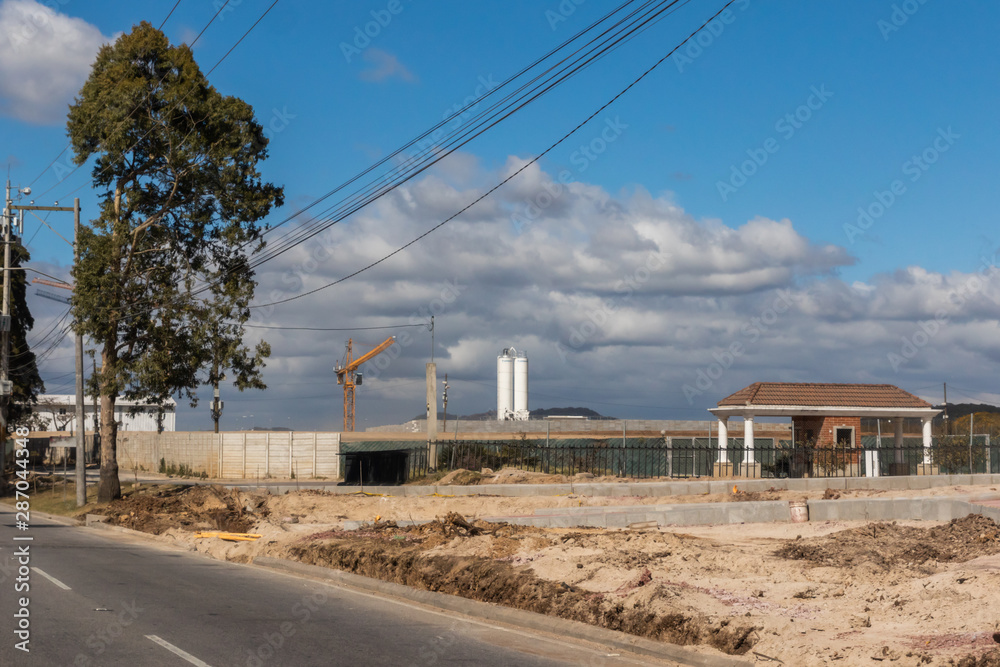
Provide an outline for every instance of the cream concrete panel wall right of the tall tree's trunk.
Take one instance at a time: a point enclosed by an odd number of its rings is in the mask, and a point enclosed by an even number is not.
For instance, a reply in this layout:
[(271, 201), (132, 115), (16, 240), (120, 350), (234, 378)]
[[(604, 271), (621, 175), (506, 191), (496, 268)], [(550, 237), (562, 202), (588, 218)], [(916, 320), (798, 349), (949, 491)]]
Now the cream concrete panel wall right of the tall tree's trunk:
[(166, 466), (191, 468), (222, 479), (336, 479), (340, 477), (340, 434), (298, 431), (119, 432), (118, 465), (132, 470)]

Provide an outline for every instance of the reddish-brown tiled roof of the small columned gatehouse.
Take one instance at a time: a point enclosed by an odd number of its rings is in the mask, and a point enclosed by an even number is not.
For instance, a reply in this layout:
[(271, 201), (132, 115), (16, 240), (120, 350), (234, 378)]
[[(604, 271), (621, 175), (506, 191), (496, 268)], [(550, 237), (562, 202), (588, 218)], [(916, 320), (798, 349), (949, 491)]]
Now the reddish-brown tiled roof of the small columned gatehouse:
[(859, 408), (932, 408), (927, 401), (891, 384), (754, 382), (719, 401), (731, 405), (817, 405)]

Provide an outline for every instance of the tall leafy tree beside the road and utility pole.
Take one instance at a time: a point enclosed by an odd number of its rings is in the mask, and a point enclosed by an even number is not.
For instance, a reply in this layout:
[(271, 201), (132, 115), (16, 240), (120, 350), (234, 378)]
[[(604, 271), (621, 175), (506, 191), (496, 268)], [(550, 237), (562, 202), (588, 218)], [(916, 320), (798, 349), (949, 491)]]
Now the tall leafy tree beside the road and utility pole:
[(81, 230), (78, 326), (100, 348), (98, 500), (121, 495), (119, 397), (197, 403), (214, 353), (238, 386), (263, 387), (266, 344), (243, 344), (255, 282), (244, 248), (282, 203), (261, 180), (267, 138), (253, 109), (209, 85), (186, 45), (143, 22), (104, 46), (67, 130), (75, 161), (96, 156), (100, 216)]

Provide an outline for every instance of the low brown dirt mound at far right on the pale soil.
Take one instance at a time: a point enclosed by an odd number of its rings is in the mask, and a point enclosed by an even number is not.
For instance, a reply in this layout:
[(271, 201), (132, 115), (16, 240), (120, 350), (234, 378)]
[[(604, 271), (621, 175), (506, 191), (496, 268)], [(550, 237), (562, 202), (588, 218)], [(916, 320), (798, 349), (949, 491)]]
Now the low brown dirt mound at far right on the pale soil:
[(870, 523), (823, 537), (795, 540), (775, 552), (817, 565), (854, 567), (870, 563), (882, 570), (927, 561), (956, 562), (1000, 553), (1000, 526), (979, 514), (933, 528)]

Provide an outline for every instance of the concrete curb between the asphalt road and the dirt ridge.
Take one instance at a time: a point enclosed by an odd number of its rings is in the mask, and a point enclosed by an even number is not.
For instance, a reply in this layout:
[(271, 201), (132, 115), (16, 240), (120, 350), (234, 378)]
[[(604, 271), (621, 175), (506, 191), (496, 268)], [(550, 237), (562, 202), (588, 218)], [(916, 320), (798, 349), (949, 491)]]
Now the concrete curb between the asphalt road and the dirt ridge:
[(630, 653), (647, 655), (662, 660), (673, 660), (682, 665), (692, 665), (695, 667), (749, 667), (753, 665), (752, 662), (739, 658), (694, 653), (673, 644), (661, 644), (624, 632), (607, 630), (578, 621), (569, 621), (555, 616), (545, 616), (544, 614), (503, 607), (488, 602), (469, 600), (457, 595), (410, 588), (402, 584), (371, 579), (350, 572), (331, 570), (317, 565), (307, 565), (297, 561), (266, 556), (254, 558), (253, 564), (285, 572), (286, 574), (319, 579), (338, 586), (348, 586), (380, 595), (390, 595), (473, 618), (506, 623), (526, 630), (548, 632), (563, 637), (606, 644), (619, 650), (629, 651)]

